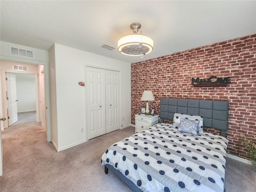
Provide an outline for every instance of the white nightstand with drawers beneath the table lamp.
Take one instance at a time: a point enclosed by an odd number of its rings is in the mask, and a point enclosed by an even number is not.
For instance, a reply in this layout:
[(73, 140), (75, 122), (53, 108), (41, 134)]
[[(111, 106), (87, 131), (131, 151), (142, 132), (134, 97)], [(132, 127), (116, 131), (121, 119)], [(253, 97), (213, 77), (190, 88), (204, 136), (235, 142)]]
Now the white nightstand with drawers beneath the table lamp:
[(140, 132), (158, 123), (159, 115), (135, 115), (135, 132)]

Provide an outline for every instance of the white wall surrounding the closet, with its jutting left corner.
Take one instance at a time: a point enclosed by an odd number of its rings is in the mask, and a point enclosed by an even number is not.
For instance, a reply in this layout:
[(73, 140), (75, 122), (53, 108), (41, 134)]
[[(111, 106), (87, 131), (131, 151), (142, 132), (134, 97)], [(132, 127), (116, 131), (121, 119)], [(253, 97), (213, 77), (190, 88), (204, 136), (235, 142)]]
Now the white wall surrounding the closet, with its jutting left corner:
[(85, 65), (120, 71), (122, 117), (124, 117), (122, 125), (123, 127), (130, 125), (130, 63), (60, 44), (55, 44), (49, 50), (49, 55), (51, 85), (56, 84), (56, 92), (51, 91), (51, 113), (55, 113), (55, 118), (52, 118), (52, 130), (58, 134), (54, 137), (58, 140), (58, 146), (55, 146), (58, 151), (86, 142), (87, 131), (80, 132), (81, 127), (86, 128), (85, 88), (78, 85), (78, 82), (85, 82)]

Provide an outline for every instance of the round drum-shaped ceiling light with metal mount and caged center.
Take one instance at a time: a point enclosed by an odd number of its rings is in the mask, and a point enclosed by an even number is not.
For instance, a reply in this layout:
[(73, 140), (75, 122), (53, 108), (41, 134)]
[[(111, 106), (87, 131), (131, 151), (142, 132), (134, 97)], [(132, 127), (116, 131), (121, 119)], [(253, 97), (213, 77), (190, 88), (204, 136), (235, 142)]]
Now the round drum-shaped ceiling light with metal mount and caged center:
[(139, 23), (132, 23), (130, 28), (133, 34), (118, 40), (117, 46), (120, 53), (130, 56), (142, 56), (153, 50), (153, 40), (148, 36), (142, 35), (142, 32), (138, 34), (140, 27)]

